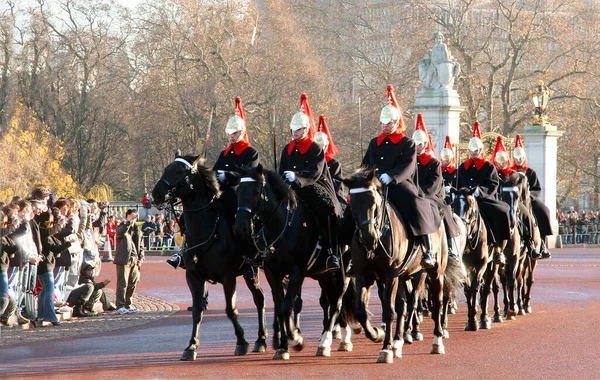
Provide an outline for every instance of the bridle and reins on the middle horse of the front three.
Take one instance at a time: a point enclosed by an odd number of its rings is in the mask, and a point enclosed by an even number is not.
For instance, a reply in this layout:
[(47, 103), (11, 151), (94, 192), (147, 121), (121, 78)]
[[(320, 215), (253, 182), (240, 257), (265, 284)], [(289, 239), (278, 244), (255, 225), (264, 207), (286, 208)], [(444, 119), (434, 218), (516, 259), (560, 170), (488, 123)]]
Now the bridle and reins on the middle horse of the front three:
[[(252, 177), (242, 177), (240, 179), (240, 184), (248, 183), (248, 182), (258, 182), (258, 181)], [(252, 243), (254, 244), (254, 247), (256, 247), (256, 250), (258, 251), (258, 253), (260, 253), (260, 255), (262, 257), (266, 257), (266, 255), (268, 253), (275, 252), (275, 246), (281, 241), (281, 239), (283, 239), (283, 237), (289, 230), (289, 227), (292, 226), (292, 223), (294, 221), (294, 216), (296, 215), (296, 213), (294, 212), (294, 210), (292, 210), (292, 207), (290, 205), (290, 198), (287, 197), (287, 207), (286, 207), (285, 223), (283, 225), (283, 229), (281, 230), (279, 235), (272, 242), (269, 243), (267, 240), (265, 228), (273, 220), (273, 217), (277, 214), (277, 212), (283, 205), (283, 201), (286, 199), (286, 197), (282, 197), (281, 201), (279, 201), (279, 204), (277, 205), (275, 210), (271, 213), (271, 215), (269, 215), (269, 217), (266, 219), (266, 221), (264, 223), (262, 223), (262, 227), (260, 228), (260, 230), (255, 232), (254, 226), (256, 224), (258, 224), (258, 222), (260, 221), (259, 211), (260, 210), (265, 211), (265, 204), (266, 204), (265, 202), (267, 202), (269, 200), (265, 193), (265, 188), (266, 188), (266, 180), (264, 177), (262, 177), (262, 180), (260, 181), (260, 191), (259, 191), (258, 201), (256, 202), (254, 211), (252, 211), (251, 208), (244, 207), (244, 206), (242, 206), (242, 207), (238, 206), (238, 208), (237, 208), (238, 211), (244, 211), (251, 215), (250, 236), (252, 238)], [(261, 246), (262, 246), (262, 248), (261, 248)]]

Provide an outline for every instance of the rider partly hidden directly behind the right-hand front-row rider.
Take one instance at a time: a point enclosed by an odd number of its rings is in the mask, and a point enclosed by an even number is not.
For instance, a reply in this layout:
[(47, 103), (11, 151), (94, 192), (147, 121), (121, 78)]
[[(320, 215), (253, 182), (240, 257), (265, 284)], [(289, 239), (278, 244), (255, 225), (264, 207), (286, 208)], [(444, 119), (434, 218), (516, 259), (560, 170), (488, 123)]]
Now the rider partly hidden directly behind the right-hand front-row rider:
[(448, 256), (458, 260), (460, 229), (453, 218), (452, 210), (444, 202), (441, 163), (435, 156), (433, 141), (431, 135), (427, 133), (422, 114), (417, 114), (417, 126), (413, 133), (413, 140), (417, 149), (419, 187), (423, 190), (425, 198), (432, 200), (440, 209), (448, 239)]

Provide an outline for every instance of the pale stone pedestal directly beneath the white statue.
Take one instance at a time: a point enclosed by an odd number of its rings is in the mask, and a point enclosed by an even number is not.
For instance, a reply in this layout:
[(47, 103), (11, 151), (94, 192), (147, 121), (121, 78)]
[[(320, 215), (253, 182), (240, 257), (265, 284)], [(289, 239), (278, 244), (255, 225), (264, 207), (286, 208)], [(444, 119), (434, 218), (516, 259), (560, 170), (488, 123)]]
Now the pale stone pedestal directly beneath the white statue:
[(452, 144), (460, 138), (461, 107), (458, 93), (453, 89), (421, 88), (415, 100), (413, 111), (423, 114), (427, 130), (433, 138), (436, 152), (444, 147), (446, 136)]

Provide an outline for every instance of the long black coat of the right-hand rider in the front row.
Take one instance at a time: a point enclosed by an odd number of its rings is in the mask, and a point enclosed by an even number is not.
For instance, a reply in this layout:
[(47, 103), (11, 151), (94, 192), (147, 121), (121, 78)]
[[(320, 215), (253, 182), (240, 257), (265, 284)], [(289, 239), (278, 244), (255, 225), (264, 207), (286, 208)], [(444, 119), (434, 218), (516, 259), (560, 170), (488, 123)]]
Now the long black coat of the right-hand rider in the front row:
[(417, 151), (415, 142), (404, 136), (394, 144), (385, 138), (377, 145), (377, 138), (369, 143), (363, 166), (375, 168), (377, 176), (387, 173), (394, 180), (388, 187), (389, 200), (399, 210), (413, 236), (437, 231), (440, 215), (437, 207), (423, 196), (418, 186)]

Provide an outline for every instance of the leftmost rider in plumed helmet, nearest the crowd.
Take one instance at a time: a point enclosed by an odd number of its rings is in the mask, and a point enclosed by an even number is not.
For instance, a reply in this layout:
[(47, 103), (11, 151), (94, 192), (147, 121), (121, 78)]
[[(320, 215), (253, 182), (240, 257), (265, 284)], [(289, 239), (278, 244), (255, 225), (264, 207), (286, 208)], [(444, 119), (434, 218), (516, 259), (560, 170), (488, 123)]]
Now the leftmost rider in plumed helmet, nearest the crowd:
[[(252, 168), (258, 166), (258, 152), (250, 146), (246, 121), (244, 119), (244, 109), (242, 108), (242, 100), (240, 98), (235, 98), (235, 115), (227, 121), (225, 133), (229, 136), (229, 145), (219, 154), (213, 171), (217, 173), (219, 189), (221, 190), (221, 197), (219, 199), (223, 204), (225, 217), (229, 226), (233, 226), (237, 210), (235, 189), (240, 182), (239, 172), (242, 167)], [(181, 225), (182, 223), (179, 224)], [(182, 259), (181, 253), (177, 253), (168, 259), (167, 263), (177, 268), (183, 265)]]

